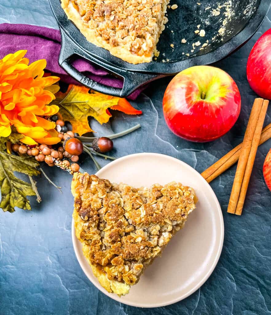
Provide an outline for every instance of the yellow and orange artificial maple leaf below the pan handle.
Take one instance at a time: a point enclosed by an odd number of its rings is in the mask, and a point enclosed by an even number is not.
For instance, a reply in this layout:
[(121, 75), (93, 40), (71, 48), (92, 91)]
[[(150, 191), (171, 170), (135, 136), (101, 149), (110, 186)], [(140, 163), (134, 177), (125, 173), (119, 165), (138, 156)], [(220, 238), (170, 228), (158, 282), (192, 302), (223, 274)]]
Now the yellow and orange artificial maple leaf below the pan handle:
[(116, 109), (127, 114), (141, 114), (131, 104), (119, 97), (101, 94), (95, 91), (88, 93), (84, 86), (70, 84), (67, 92), (57, 93), (54, 103), (58, 103), (59, 113), (63, 120), (71, 122), (73, 132), (80, 136), (93, 131), (88, 124), (88, 116), (98, 120), (100, 124), (107, 123), (111, 114), (108, 108)]

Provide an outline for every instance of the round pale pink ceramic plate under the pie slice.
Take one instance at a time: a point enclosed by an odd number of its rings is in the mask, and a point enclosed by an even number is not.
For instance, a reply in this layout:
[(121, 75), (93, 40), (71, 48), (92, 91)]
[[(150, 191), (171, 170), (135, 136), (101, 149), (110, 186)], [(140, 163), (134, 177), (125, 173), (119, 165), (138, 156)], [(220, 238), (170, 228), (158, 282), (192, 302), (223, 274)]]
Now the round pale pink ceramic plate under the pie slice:
[(135, 187), (179, 181), (193, 187), (199, 201), (184, 228), (163, 251), (162, 257), (157, 257), (146, 268), (138, 284), (122, 297), (108, 293), (93, 276), (73, 227), (72, 241), (76, 257), (89, 280), (112, 299), (139, 307), (165, 306), (178, 302), (204, 284), (217, 264), (224, 238), (221, 208), (206, 180), (186, 163), (157, 153), (121, 157), (107, 164), (96, 175)]

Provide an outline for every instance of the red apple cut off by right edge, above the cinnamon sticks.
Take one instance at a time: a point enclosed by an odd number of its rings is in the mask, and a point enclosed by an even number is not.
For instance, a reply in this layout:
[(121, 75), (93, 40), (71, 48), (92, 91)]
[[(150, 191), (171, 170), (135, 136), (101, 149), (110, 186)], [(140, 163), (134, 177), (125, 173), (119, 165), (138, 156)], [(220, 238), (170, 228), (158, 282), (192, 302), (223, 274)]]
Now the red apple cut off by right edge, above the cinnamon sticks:
[(246, 75), (251, 89), (271, 100), (271, 28), (253, 46), (247, 60)]

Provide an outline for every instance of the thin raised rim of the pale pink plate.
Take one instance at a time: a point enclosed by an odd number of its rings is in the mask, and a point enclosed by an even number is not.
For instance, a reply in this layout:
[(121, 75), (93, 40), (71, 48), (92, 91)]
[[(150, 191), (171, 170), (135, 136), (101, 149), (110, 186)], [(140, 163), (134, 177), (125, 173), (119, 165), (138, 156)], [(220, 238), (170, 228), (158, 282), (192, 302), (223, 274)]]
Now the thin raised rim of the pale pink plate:
[[(99, 171), (97, 171), (95, 173), (95, 175), (99, 176), (99, 173), (101, 172), (101, 170), (106, 170), (110, 167), (112, 167), (113, 165), (115, 165), (116, 163), (120, 163), (121, 161), (123, 160), (126, 160), (127, 158), (131, 158), (131, 157), (136, 157), (136, 156), (146, 156), (146, 155), (149, 155), (149, 156), (160, 156), (160, 157), (163, 157), (163, 158), (168, 158), (170, 160), (174, 160), (175, 162), (177, 161), (178, 163), (181, 163), (183, 164), (185, 167), (191, 169), (192, 172), (194, 172), (195, 174), (197, 175), (200, 175), (200, 173), (198, 171), (196, 171), (193, 167), (191, 167), (189, 164), (179, 160), (178, 158), (176, 157), (171, 157), (167, 154), (161, 154), (161, 153), (151, 153), (151, 152), (143, 152), (143, 153), (133, 153), (133, 154), (129, 154), (129, 155), (126, 155), (124, 157), (120, 157), (108, 164), (106, 164), (104, 167), (102, 167)], [(201, 176), (200, 176), (201, 177)], [(75, 228), (74, 228), (74, 220), (72, 218), (72, 223), (71, 223), (71, 235), (72, 235), (72, 245), (73, 245), (73, 249), (74, 249), (74, 252), (75, 252), (75, 255), (76, 255), (76, 259), (77, 261), (79, 262), (79, 265), (81, 267), (81, 269), (83, 270), (84, 274), (86, 275), (86, 277), (89, 279), (89, 281), (97, 288), (99, 289), (99, 291), (103, 292), (105, 295), (109, 296), (111, 299), (117, 301), (117, 302), (120, 302), (122, 304), (126, 304), (126, 305), (129, 305), (129, 306), (135, 306), (135, 307), (145, 307), (145, 308), (153, 308), (153, 307), (161, 307), (161, 306), (167, 306), (167, 305), (171, 305), (171, 304), (174, 304), (176, 302), (179, 302), (179, 301), (182, 301), (184, 300), (185, 298), (187, 298), (189, 295), (193, 294), (197, 289), (199, 289), (206, 281), (207, 279), (211, 276), (212, 272), (214, 271), (215, 267), (217, 266), (217, 263), (218, 263), (218, 260), (220, 258), (220, 255), (221, 255), (221, 252), (222, 252), (222, 248), (223, 248), (223, 243), (224, 243), (224, 220), (223, 220), (223, 214), (222, 214), (222, 209), (221, 209), (221, 206), (218, 202), (218, 199), (217, 199), (217, 196), (215, 194), (215, 192), (213, 191), (212, 187), (210, 186), (209, 183), (207, 183), (207, 181), (201, 177), (202, 180), (205, 182), (205, 185), (207, 184), (207, 187), (209, 188), (210, 192), (212, 193), (213, 197), (214, 197), (214, 200), (216, 202), (216, 205), (218, 207), (218, 214), (219, 214), (219, 223), (220, 223), (220, 240), (219, 240), (219, 246), (218, 246), (218, 251), (217, 251), (217, 254), (215, 256), (215, 259), (212, 263), (212, 265), (208, 268), (208, 272), (205, 274), (205, 276), (201, 279), (201, 281), (199, 281), (198, 284), (196, 284), (192, 289), (190, 289), (187, 293), (185, 293), (184, 295), (181, 295), (179, 298), (175, 298), (175, 299), (172, 299), (170, 301), (167, 301), (166, 303), (157, 303), (155, 305), (153, 304), (147, 304), (147, 305), (144, 305), (144, 306), (140, 306), (135, 304), (135, 303), (132, 303), (132, 302), (129, 302), (129, 303), (126, 303), (126, 302), (123, 302), (121, 301), (121, 297), (119, 297), (118, 295), (116, 294), (113, 294), (113, 293), (110, 293), (108, 291), (106, 291), (103, 287), (99, 288), (95, 283), (92, 282), (92, 280), (88, 277), (88, 271), (86, 270), (86, 268), (84, 267), (84, 265), (81, 263), (81, 258), (80, 258), (80, 249), (78, 248), (78, 246), (76, 246), (76, 243), (80, 242), (77, 238), (76, 238), (76, 235), (75, 235)], [(85, 258), (84, 258), (85, 259)]]

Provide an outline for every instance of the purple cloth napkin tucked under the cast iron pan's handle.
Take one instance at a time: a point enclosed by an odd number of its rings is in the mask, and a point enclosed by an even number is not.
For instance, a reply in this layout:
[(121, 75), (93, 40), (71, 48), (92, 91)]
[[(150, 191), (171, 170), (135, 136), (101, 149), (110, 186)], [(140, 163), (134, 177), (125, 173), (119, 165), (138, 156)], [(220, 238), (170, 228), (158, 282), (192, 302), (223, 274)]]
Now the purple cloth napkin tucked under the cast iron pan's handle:
[[(58, 64), (60, 43), (59, 30), (27, 24), (0, 24), (0, 59), (6, 54), (14, 53), (20, 49), (27, 49), (25, 56), (30, 62), (46, 59), (46, 69), (48, 71), (56, 74), (66, 83), (80, 84)], [(93, 65), (88, 60), (75, 60), (73, 66), (96, 82), (116, 88), (121, 88), (123, 85), (123, 80), (111, 76), (103, 68)], [(138, 88), (129, 98), (136, 99), (143, 89), (144, 87)]]

